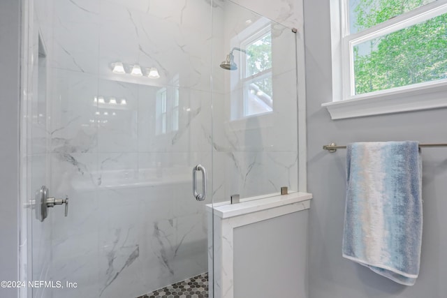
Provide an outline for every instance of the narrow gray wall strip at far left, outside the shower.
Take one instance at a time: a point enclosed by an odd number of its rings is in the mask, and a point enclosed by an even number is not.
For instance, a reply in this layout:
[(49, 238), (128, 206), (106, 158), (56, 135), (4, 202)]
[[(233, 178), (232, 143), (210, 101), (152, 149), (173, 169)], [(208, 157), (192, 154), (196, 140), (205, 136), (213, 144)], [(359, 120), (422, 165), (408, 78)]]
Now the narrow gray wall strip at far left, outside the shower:
[[(0, 281), (18, 278), (20, 1), (0, 1)], [(0, 288), (0, 297), (17, 297)]]

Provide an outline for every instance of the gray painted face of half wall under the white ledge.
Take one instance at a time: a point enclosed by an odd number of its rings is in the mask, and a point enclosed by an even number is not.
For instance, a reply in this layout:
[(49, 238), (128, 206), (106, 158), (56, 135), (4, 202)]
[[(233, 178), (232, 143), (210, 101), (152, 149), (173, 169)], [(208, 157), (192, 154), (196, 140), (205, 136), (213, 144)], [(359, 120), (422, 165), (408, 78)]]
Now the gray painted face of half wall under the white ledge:
[(234, 297), (308, 297), (309, 211), (233, 230)]

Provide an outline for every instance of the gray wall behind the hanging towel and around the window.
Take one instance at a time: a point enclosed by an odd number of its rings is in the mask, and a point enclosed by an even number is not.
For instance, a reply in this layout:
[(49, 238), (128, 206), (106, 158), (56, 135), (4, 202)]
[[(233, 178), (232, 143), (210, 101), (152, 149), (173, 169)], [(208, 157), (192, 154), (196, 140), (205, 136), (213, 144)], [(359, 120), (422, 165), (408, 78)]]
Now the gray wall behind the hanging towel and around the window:
[(310, 298), (447, 297), (447, 148), (423, 149), (423, 247), (416, 285), (406, 287), (342, 258), (345, 155), (323, 144), (356, 141), (447, 142), (447, 110), (332, 121), (329, 1), (305, 0)]

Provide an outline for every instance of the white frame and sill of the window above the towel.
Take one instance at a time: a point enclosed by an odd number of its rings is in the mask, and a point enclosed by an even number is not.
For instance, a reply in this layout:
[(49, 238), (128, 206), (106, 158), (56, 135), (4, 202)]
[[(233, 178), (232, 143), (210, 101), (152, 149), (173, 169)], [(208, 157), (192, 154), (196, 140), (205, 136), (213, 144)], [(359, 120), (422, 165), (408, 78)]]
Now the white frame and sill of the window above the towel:
[(367, 40), (447, 13), (437, 0), (363, 31), (349, 34), (348, 0), (330, 0), (332, 103), (323, 103), (332, 119), (447, 107), (447, 80), (436, 80), (366, 94), (355, 94), (352, 48)]

